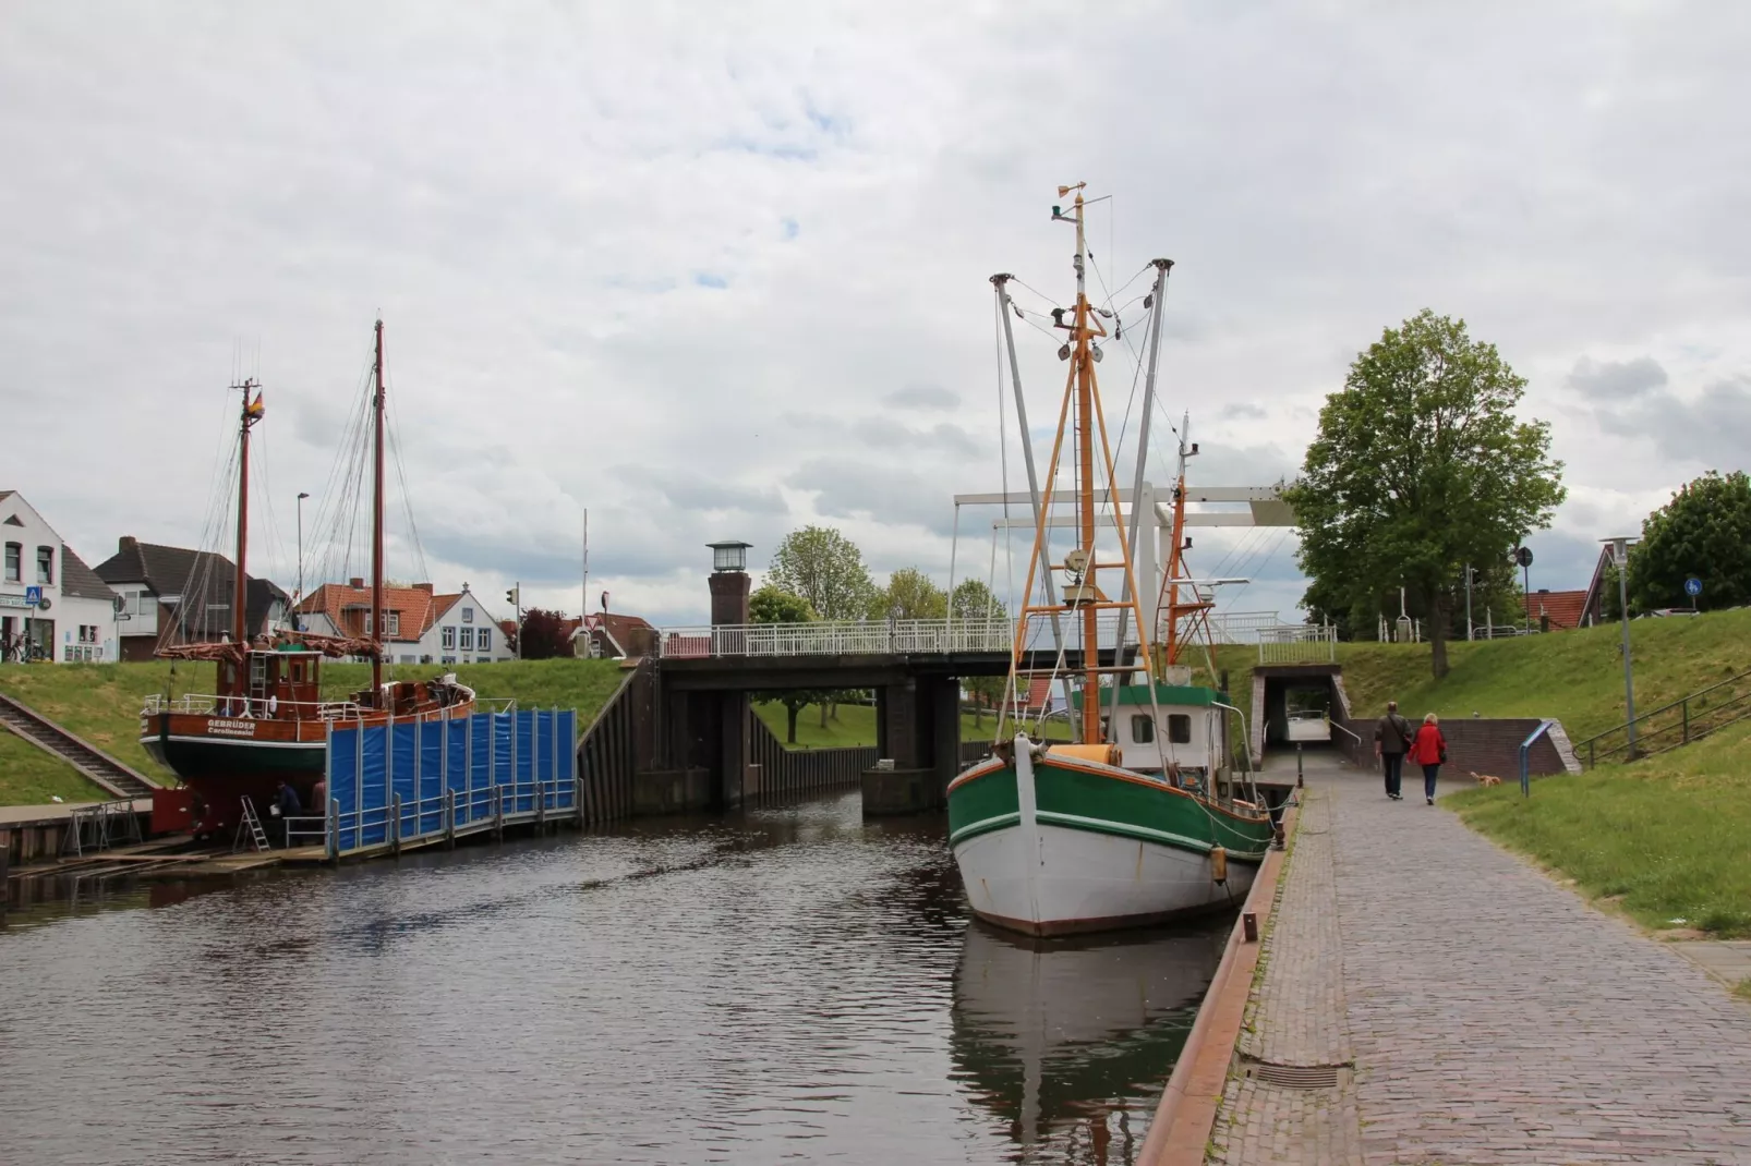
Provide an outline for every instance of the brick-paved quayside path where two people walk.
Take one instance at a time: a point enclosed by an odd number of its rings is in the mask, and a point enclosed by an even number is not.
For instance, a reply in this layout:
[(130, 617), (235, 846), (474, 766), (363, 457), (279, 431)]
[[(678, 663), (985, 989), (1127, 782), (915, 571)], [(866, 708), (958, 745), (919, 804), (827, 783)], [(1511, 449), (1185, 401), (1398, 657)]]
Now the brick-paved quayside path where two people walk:
[[(1261, 1031), (1243, 1036), (1240, 1064), (1341, 1054), (1348, 1040), (1355, 1077), (1313, 1091), (1233, 1077), (1212, 1161), (1751, 1166), (1751, 1007), (1445, 809), (1389, 802), (1371, 772), (1308, 781), (1304, 830), (1331, 795), (1336, 930), (1290, 930), (1320, 910), (1310, 833), (1285, 872), (1283, 926), (1266, 937), (1248, 1010)], [(1408, 793), (1420, 784), (1406, 776)], [(1334, 937), (1336, 994), (1322, 984)]]

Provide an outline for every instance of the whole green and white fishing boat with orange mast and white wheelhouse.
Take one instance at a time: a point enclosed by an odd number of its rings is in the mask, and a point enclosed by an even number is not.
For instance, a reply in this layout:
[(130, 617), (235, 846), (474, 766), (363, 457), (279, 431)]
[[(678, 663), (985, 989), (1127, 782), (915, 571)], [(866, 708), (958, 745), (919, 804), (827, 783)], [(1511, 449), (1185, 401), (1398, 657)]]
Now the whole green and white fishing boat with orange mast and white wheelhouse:
[[(949, 844), (972, 910), (1003, 928), (1030, 935), (1061, 935), (1143, 926), (1175, 916), (1240, 902), (1273, 840), (1269, 814), (1255, 800), (1233, 797), (1226, 767), (1226, 713), (1217, 693), (1191, 685), (1177, 651), (1185, 643), (1180, 622), (1199, 618), (1206, 602), (1180, 602), (1184, 543), (1184, 446), (1175, 504), (1175, 551), (1163, 599), (1170, 651), (1157, 658), (1154, 629), (1143, 620), (1133, 569), (1140, 529), (1152, 516), (1133, 513), (1126, 527), (1112, 448), (1101, 415), (1094, 364), (1096, 341), (1107, 336), (1103, 313), (1087, 298), (1086, 203), (1082, 184), (1070, 214), (1056, 221), (1077, 231), (1073, 310), (1056, 310), (1066, 331), (1059, 357), (1070, 364), (1052, 453), (1035, 485), (1035, 539), (1028, 560), (1023, 608), (1010, 655), (1009, 692), (1024, 692), (1042, 669), (1037, 630), (1051, 627), (1052, 683), (1073, 688), (1075, 741), (1030, 737), (1005, 711), (998, 741), (984, 762), (949, 784)], [(1161, 336), (1166, 259), (1154, 261), (1149, 376), (1138, 439), (1138, 487), (1149, 450), (1149, 417)], [(1009, 320), (1005, 280), (998, 277), (1000, 319)], [(1010, 340), (1010, 347), (1014, 341)], [(1010, 355), (1010, 366), (1014, 355)], [(1017, 389), (1019, 397), (1019, 389)], [(1017, 410), (1019, 411), (1019, 410)], [(1023, 422), (1024, 424), (1024, 422)], [(1098, 443), (1096, 443), (1098, 438)], [(1075, 544), (1049, 562), (1054, 487), (1066, 439), (1075, 490)], [(1024, 443), (1026, 445), (1026, 443)], [(1140, 490), (1133, 490), (1138, 497)], [(1121, 532), (1119, 551), (1101, 560), (1096, 546), (1100, 509)], [(1107, 576), (1103, 576), (1107, 572)], [(1061, 587), (1056, 576), (1061, 574)], [(1112, 599), (1103, 578), (1121, 579)], [(1135, 629), (1136, 643), (1128, 639)], [(1131, 683), (1135, 679), (1142, 683)], [(1170, 683), (1161, 683), (1163, 679)], [(1238, 713), (1236, 713), (1238, 716)]]

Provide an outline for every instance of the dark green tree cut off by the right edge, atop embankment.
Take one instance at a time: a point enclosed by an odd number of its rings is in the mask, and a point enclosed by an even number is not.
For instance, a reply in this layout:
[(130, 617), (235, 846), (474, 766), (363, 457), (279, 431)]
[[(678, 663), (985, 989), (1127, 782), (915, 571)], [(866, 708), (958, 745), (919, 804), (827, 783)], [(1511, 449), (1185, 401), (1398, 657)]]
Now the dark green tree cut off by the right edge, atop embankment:
[(1690, 576), (1702, 579), (1700, 602), (1709, 608), (1751, 602), (1751, 478), (1744, 473), (1711, 469), (1648, 515), (1630, 550), (1630, 609), (1688, 608)]

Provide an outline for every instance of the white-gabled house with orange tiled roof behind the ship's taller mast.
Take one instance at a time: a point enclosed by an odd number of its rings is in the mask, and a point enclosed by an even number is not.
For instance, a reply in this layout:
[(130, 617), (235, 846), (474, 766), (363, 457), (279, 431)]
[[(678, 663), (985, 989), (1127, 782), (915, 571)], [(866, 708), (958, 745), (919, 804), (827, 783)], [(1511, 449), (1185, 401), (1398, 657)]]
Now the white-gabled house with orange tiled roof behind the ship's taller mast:
[[(371, 588), (364, 579), (324, 583), (296, 611), (306, 632), (371, 634)], [(431, 583), (385, 585), (383, 613), (390, 664), (497, 664), (513, 657), (504, 632), (468, 583), (450, 595), (438, 595)]]

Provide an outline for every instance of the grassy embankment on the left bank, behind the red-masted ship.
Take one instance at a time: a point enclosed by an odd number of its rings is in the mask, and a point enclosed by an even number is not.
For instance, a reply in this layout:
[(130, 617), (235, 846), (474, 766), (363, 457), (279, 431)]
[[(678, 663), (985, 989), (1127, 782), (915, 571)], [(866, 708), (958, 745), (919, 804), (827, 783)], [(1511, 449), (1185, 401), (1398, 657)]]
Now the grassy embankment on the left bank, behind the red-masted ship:
[[(392, 679), (427, 679), (441, 665), (397, 664)], [(588, 725), (620, 686), (623, 671), (613, 660), (515, 660), (508, 664), (452, 665), (457, 679), (483, 699), (510, 697), (518, 707), (578, 709)], [(368, 664), (327, 664), (322, 695), (341, 699), (371, 683)], [(0, 667), (0, 692), (23, 700), (51, 721), (84, 737), (124, 765), (154, 781), (170, 774), (140, 748), (140, 706), (151, 693), (207, 693), (214, 688), (214, 665), (177, 664), (33, 664)], [(51, 793), (88, 800), (109, 797), (65, 762), (0, 732), (0, 805), (47, 802)]]

